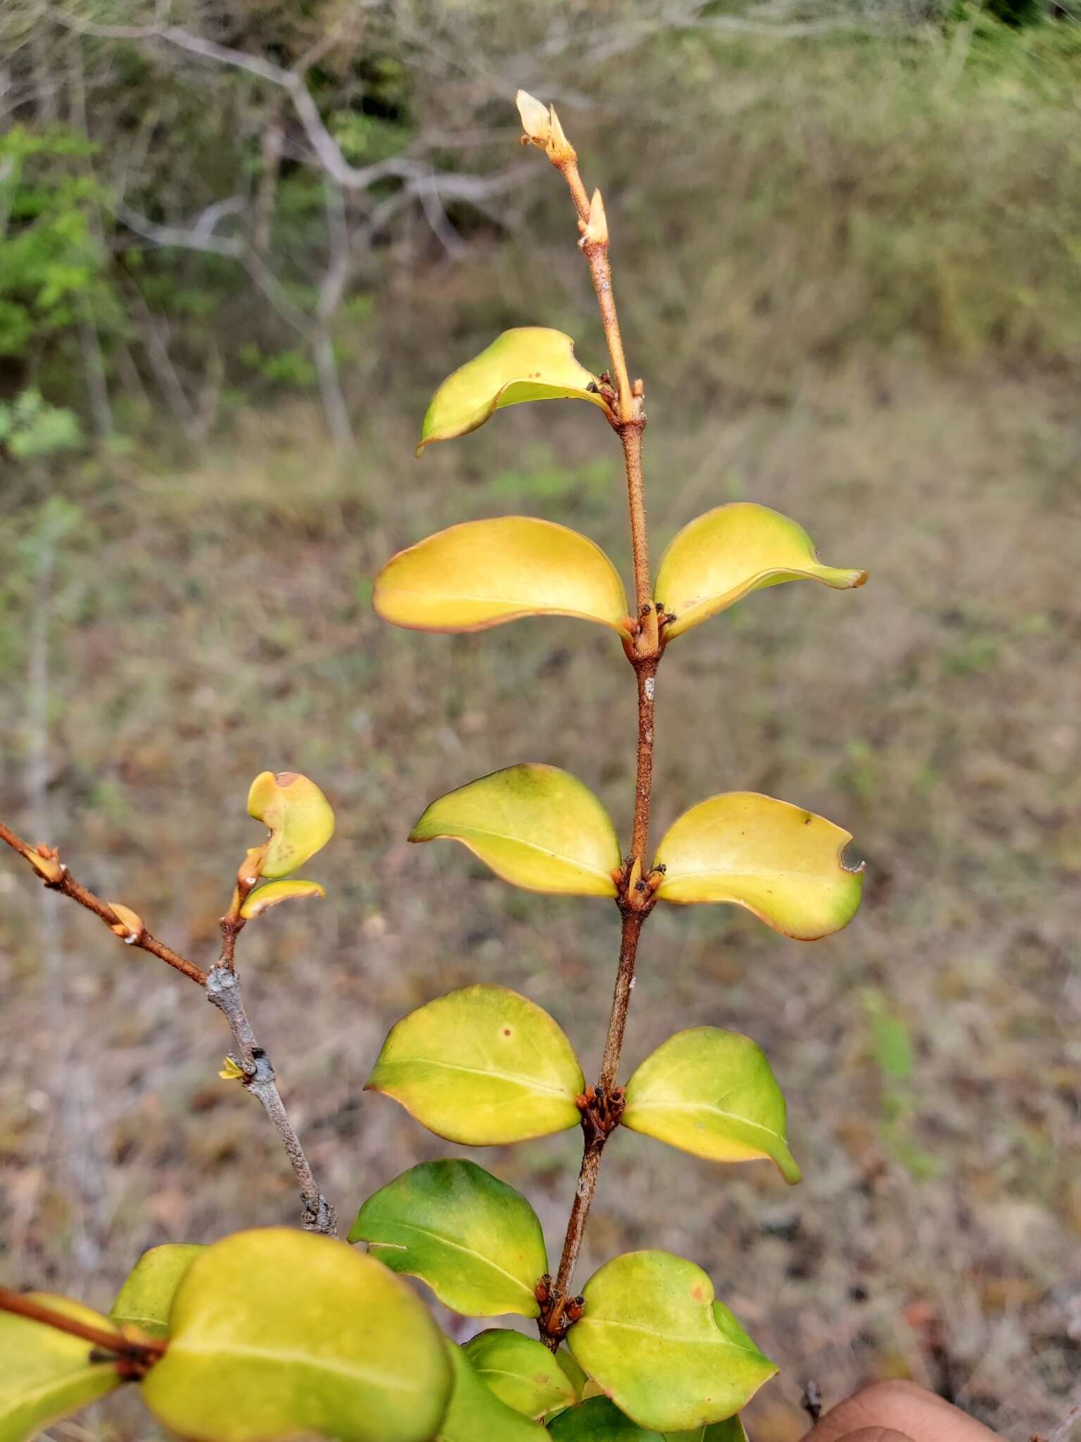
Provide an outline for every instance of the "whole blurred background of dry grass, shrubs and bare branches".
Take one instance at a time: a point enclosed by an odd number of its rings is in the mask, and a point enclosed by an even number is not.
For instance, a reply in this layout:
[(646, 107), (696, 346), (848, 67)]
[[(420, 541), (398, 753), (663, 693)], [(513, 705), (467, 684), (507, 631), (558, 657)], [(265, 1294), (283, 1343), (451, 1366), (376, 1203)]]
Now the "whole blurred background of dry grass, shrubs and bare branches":
[[(572, 622), (379, 627), (441, 525), (526, 512), (628, 570), (618, 448), (529, 407), (422, 463), (499, 330), (602, 365), (523, 85), (604, 189), (654, 551), (751, 497), (872, 584), (786, 587), (659, 686), (657, 826), (754, 787), (855, 832), (863, 911), (788, 943), (657, 913), (628, 1064), (737, 1027), (807, 1181), (617, 1138), (584, 1266), (653, 1244), (783, 1364), (754, 1435), (911, 1376), (1065, 1442), (1081, 1358), (1081, 29), (935, 0), (7, 0), (0, 9), (0, 796), (213, 955), (251, 777), (340, 819), (330, 898), (242, 939), (343, 1217), (445, 1144), (360, 1087), (386, 1027), (504, 982), (597, 1063), (617, 929), (402, 844), (448, 786), (566, 766), (626, 828), (633, 688)], [(660, 833), (660, 832), (657, 832)], [(99, 934), (101, 932), (101, 934)], [(164, 972), (164, 969), (161, 969)], [(134, 1255), (293, 1213), (190, 986), (0, 867), (0, 1276), (108, 1302)], [(558, 1236), (577, 1139), (484, 1156)], [(1072, 1156), (1072, 1161), (1071, 1161)], [(123, 1403), (94, 1435), (133, 1433)], [(78, 1430), (85, 1436), (85, 1429)], [(59, 1435), (59, 1433), (58, 1433)], [(65, 1433), (66, 1435), (66, 1433)]]

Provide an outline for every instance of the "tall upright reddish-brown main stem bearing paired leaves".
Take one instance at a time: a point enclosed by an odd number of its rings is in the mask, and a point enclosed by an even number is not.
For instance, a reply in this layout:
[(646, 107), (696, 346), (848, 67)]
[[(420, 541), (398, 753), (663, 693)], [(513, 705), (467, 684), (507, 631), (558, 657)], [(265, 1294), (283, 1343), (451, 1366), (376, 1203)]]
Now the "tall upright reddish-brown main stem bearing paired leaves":
[[(590, 200), (578, 172), (574, 151), (553, 160), (566, 180), (578, 211), (579, 228), (585, 231), (590, 219)], [(627, 1009), (634, 988), (634, 965), (639, 952), (641, 927), (653, 910), (653, 890), (649, 885), (646, 848), (649, 845), (650, 803), (653, 799), (653, 711), (657, 666), (662, 655), (659, 614), (653, 603), (650, 580), (649, 531), (646, 525), (646, 482), (641, 466), (641, 433), (646, 427), (643, 411), (643, 385), (630, 384), (627, 360), (623, 350), (623, 336), (615, 313), (615, 297), (611, 286), (608, 262), (608, 239), (585, 239), (582, 252), (590, 264), (601, 323), (611, 358), (611, 373), (617, 391), (617, 417), (614, 428), (623, 444), (627, 470), (627, 503), (630, 509), (631, 551), (634, 557), (634, 594), (637, 600), (637, 632), (626, 645), (627, 658), (634, 666), (639, 686), (639, 740), (634, 777), (634, 822), (631, 829), (631, 861), (623, 878), (618, 895), (623, 927), (620, 934), (620, 962), (615, 972), (608, 1031), (604, 1040), (604, 1056), (597, 1086), (579, 1102), (582, 1106), (582, 1165), (578, 1174), (571, 1216), (566, 1223), (559, 1270), (552, 1288), (551, 1301), (542, 1306), (540, 1338), (552, 1351), (559, 1348), (572, 1317), (566, 1315), (571, 1301), (578, 1253), (585, 1236), (590, 1207), (597, 1191), (604, 1146), (618, 1126), (623, 1112), (623, 1093), (617, 1087), (623, 1037), (627, 1028)], [(584, 1103), (584, 1105), (582, 1105)]]

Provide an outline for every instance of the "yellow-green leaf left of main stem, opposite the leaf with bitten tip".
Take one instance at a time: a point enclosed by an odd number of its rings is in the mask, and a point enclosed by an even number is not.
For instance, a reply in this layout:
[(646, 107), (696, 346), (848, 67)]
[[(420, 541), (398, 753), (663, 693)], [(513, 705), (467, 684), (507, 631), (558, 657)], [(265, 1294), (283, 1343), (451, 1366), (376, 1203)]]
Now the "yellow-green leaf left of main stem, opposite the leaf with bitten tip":
[(409, 841), (448, 836), (528, 891), (614, 897), (620, 838), (594, 793), (556, 766), (523, 763), (432, 802)]

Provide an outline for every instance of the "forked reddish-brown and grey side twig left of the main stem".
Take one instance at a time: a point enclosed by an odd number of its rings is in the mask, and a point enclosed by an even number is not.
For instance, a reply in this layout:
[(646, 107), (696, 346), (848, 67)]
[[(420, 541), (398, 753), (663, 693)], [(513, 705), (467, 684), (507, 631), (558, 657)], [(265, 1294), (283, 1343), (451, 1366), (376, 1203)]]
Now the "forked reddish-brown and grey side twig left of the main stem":
[(102, 901), (101, 897), (95, 895), (71, 875), (68, 868), (61, 862), (55, 848), (30, 846), (29, 842), (23, 841), (22, 836), (17, 836), (3, 822), (0, 822), (0, 841), (6, 842), (13, 851), (19, 852), (19, 855), (35, 868), (39, 880), (50, 891), (59, 891), (61, 895), (66, 895), (71, 897), (72, 901), (78, 901), (79, 906), (92, 911), (123, 940), (160, 957), (160, 960), (182, 972), (193, 982), (197, 982), (205, 989), (208, 999), (218, 1007), (218, 1009), (225, 1015), (225, 1019), (229, 1022), (229, 1030), (232, 1031), (233, 1044), (238, 1051), (235, 1060), (244, 1071), (245, 1087), (262, 1103), (262, 1109), (274, 1123), (274, 1128), (281, 1138), (281, 1144), (285, 1148), (285, 1155), (290, 1159), (293, 1174), (297, 1178), (297, 1185), (300, 1187), (304, 1227), (308, 1231), (323, 1231), (330, 1237), (336, 1237), (337, 1216), (334, 1214), (334, 1208), (316, 1185), (316, 1178), (311, 1172), (311, 1167), (308, 1165), (308, 1159), (304, 1155), (304, 1149), (300, 1145), (300, 1138), (288, 1119), (285, 1103), (281, 1100), (274, 1077), (274, 1067), (271, 1066), (267, 1053), (262, 1047), (259, 1047), (255, 1032), (252, 1031), (252, 1025), (248, 1021), (248, 1014), (245, 1012), (244, 1002), (241, 1001), (239, 979), (232, 969), (232, 952), (236, 943), (236, 933), (244, 926), (239, 908), (248, 891), (251, 891), (251, 884), (241, 883), (233, 893), (233, 903), (226, 916), (222, 919), (222, 959), (210, 972), (205, 972), (202, 966), (196, 966), (196, 963), (189, 962), (186, 956), (180, 956), (179, 952), (166, 946), (164, 942), (159, 942), (153, 937), (146, 927), (138, 933), (128, 930), (123, 917), (117, 916), (107, 901)]

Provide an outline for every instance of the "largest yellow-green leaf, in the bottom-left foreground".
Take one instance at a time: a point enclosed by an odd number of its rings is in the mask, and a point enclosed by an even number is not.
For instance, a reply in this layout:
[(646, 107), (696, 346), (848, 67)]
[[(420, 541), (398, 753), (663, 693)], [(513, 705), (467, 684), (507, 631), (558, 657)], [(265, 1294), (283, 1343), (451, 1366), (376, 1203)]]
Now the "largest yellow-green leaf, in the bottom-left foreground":
[(189, 1266), (143, 1399), (195, 1442), (428, 1442), (451, 1389), (444, 1343), (375, 1257), (307, 1231), (238, 1231)]

